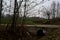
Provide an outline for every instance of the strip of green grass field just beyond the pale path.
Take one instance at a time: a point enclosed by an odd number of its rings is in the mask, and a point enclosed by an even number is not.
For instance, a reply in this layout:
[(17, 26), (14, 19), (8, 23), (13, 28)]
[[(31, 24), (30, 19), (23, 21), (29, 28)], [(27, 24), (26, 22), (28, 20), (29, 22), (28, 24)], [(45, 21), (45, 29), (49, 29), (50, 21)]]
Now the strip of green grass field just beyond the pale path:
[[(16, 22), (17, 24), (21, 23), (21, 19), (19, 18)], [(12, 23), (12, 18), (2, 18), (1, 19), (2, 24), (11, 24)], [(60, 25), (60, 19), (43, 19), (43, 18), (25, 18), (24, 19), (24, 24), (51, 24), (51, 25)]]

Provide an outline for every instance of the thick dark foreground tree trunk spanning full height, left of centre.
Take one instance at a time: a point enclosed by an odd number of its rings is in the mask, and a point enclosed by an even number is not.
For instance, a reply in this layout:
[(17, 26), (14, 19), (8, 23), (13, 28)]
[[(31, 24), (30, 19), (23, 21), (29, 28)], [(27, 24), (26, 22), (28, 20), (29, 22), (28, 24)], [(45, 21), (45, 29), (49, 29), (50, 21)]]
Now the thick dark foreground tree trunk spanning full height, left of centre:
[(13, 32), (13, 40), (17, 40), (16, 39), (16, 12), (17, 12), (17, 0), (15, 0), (14, 2), (14, 15), (12, 18), (12, 25), (11, 25), (11, 32)]

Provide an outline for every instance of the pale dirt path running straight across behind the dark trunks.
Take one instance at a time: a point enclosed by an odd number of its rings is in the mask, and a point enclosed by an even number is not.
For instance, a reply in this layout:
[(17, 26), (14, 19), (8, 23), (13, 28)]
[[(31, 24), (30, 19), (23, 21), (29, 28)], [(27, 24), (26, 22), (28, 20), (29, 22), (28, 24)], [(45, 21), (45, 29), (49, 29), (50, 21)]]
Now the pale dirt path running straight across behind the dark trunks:
[[(1, 24), (2, 26), (7, 26), (7, 24)], [(11, 25), (11, 24), (9, 24)], [(21, 26), (18, 24), (17, 26)], [(48, 27), (48, 28), (60, 28), (60, 25), (24, 25), (25, 27)]]

